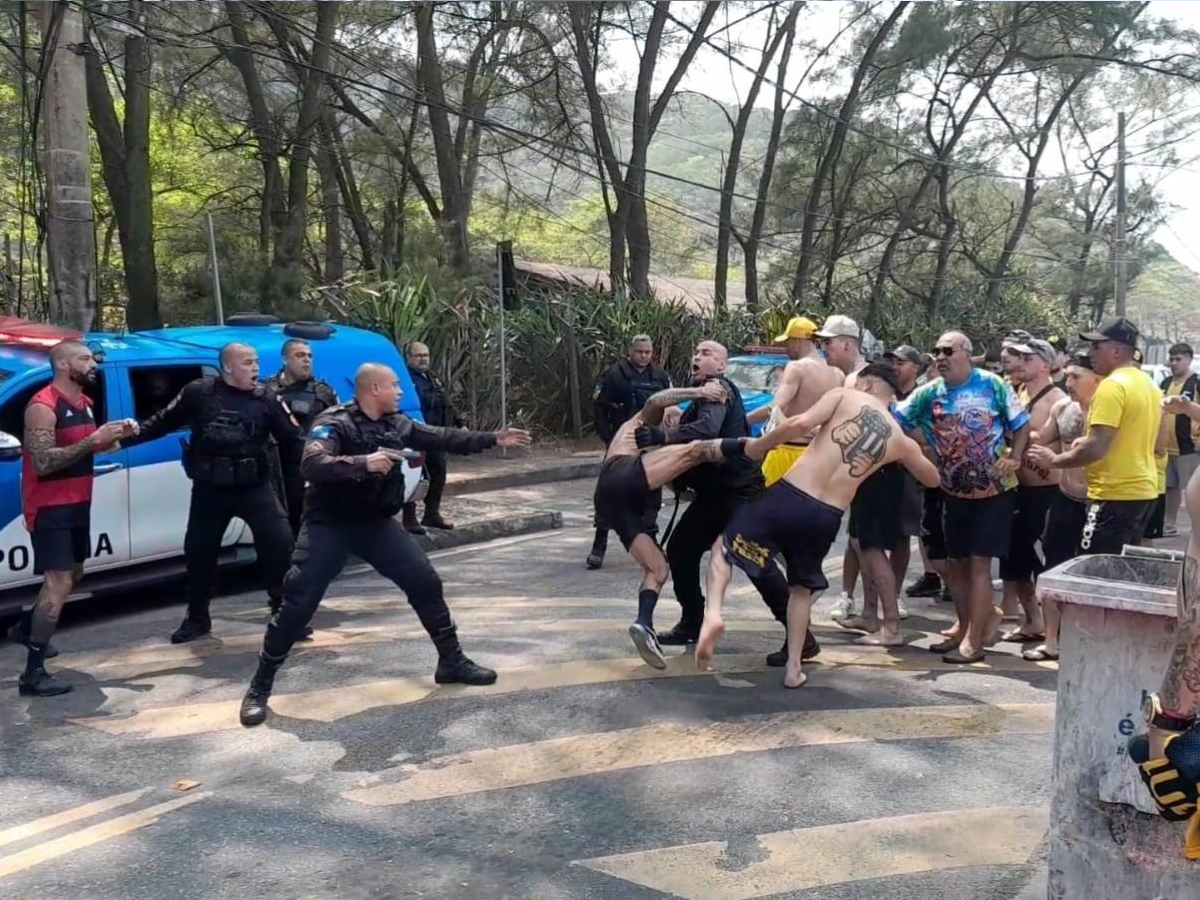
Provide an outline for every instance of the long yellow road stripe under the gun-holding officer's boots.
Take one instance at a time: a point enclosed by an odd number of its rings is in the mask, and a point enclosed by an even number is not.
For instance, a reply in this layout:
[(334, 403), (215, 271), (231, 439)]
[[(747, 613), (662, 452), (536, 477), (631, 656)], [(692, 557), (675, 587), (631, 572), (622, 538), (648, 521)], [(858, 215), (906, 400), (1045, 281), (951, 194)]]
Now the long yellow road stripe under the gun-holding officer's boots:
[[(820, 667), (814, 666), (810, 672), (842, 666), (869, 666), (916, 672), (964, 668), (962, 666), (950, 666), (943, 662), (940, 656), (931, 656), (926, 653), (899, 655), (884, 653), (880, 648), (829, 648), (822, 650), (818, 662)], [(487, 700), (522, 691), (653, 678), (698, 678), (736, 672), (761, 672), (764, 668), (763, 656), (760, 653), (718, 654), (709, 672), (698, 672), (691, 654), (688, 653), (670, 656), (667, 667), (662, 671), (650, 668), (640, 659), (629, 656), (548, 662), (528, 668), (500, 670), (499, 680), (485, 688), (439, 686), (430, 677), (394, 678), (299, 694), (278, 694), (271, 697), (271, 709), (282, 716), (331, 722), (368, 709), (406, 706), (424, 700), (456, 697)], [(1027, 662), (1020, 656), (992, 654), (986, 662), (978, 662), (970, 668), (980, 672), (1033, 672), (1039, 668), (1052, 670), (1054, 664)], [(286, 672), (283, 678), (287, 678)], [(108, 734), (144, 734), (152, 738), (168, 738), (236, 730), (240, 727), (238, 725), (238, 707), (239, 701), (236, 700), (214, 701), (186, 706), (150, 707), (139, 709), (131, 715), (89, 716), (70, 719), (68, 721)]]

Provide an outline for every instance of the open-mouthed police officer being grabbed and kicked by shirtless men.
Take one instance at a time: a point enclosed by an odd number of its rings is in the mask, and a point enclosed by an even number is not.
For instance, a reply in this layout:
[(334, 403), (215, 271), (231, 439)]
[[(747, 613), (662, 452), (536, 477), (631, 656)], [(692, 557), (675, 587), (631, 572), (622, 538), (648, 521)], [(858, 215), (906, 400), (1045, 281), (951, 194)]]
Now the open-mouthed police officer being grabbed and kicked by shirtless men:
[[(701, 341), (692, 355), (692, 384), (719, 380), (725, 385), (728, 398), (724, 403), (694, 402), (684, 412), (676, 428), (638, 428), (638, 446), (684, 444), (689, 440), (710, 438), (745, 438), (750, 436), (746, 410), (742, 394), (733, 382), (725, 377), (728, 353), (716, 341)], [(712, 550), (713, 542), (725, 530), (738, 508), (752, 500), (762, 491), (762, 470), (746, 457), (726, 460), (722, 463), (704, 463), (688, 472), (676, 484), (676, 490), (690, 488), (695, 499), (679, 517), (679, 522), (667, 541), (667, 563), (674, 582), (676, 599), (683, 607), (679, 623), (659, 635), (659, 643), (683, 646), (695, 643), (704, 620), (704, 595), (700, 589), (700, 560)], [(755, 581), (775, 618), (787, 624), (787, 582), (782, 574), (772, 568)], [(809, 635), (804, 658), (811, 659), (818, 648)], [(784, 665), (786, 653), (768, 656), (770, 665)]]

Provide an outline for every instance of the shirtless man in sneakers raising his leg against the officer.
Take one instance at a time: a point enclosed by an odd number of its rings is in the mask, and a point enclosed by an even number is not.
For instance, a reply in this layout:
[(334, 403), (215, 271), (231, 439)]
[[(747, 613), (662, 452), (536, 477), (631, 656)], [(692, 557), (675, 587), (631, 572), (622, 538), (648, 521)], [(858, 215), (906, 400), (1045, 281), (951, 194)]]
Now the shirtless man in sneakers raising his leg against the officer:
[(720, 440), (694, 440), (643, 452), (637, 445), (637, 432), (660, 426), (668, 407), (689, 400), (724, 403), (727, 394), (725, 385), (718, 380), (706, 382), (698, 388), (671, 388), (654, 394), (613, 434), (596, 480), (596, 514), (617, 533), (625, 550), (642, 566), (637, 620), (629, 626), (629, 636), (642, 659), (654, 668), (666, 668), (667, 665), (654, 634), (654, 607), (671, 569), (647, 529), (643, 515), (646, 502), (650, 493), (694, 466), (716, 462), (722, 457)]

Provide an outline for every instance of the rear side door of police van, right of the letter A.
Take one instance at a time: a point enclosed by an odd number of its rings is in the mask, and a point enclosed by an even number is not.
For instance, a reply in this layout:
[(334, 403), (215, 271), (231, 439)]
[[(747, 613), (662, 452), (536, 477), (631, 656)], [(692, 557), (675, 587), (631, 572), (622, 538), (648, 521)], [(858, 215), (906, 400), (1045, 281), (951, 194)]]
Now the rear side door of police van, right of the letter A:
[[(128, 365), (122, 374), (131, 415), (144, 421), (166, 407), (188, 382), (216, 374), (216, 368), (194, 360), (155, 360)], [(184, 427), (128, 450), (130, 552), (139, 563), (184, 552), (192, 482), (180, 462), (180, 442), (187, 436), (188, 428)], [(222, 546), (233, 544), (240, 533), (241, 522), (234, 520), (226, 529)]]

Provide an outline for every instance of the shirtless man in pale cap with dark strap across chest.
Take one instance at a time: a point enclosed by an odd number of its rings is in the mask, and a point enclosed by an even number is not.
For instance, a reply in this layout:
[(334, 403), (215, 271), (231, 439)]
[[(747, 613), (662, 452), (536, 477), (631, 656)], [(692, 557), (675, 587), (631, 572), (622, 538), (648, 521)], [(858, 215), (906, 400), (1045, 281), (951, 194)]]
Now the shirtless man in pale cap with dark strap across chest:
[[(1067, 398), (1050, 380), (1050, 366), (1057, 352), (1037, 338), (1007, 344), (1004, 349), (1015, 358), (1009, 373), (1020, 385), (1016, 396), (1030, 414), (1030, 431), (1038, 431), (1050, 421), (1055, 404)], [(1016, 470), (1016, 515), (1013, 516), (1008, 556), (1000, 560), (1000, 577), (1004, 587), (1016, 594), (1025, 611), (1025, 623), (1006, 634), (1003, 641), (1030, 643), (1044, 637), (1042, 610), (1033, 592), (1033, 582), (1044, 569), (1037, 542), (1045, 532), (1046, 516), (1058, 496), (1061, 480), (1061, 469), (1042, 466), (1027, 454)]]

